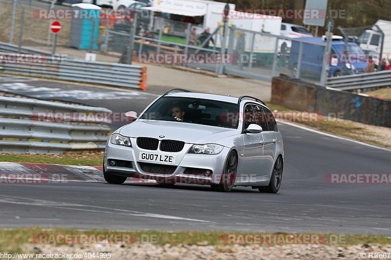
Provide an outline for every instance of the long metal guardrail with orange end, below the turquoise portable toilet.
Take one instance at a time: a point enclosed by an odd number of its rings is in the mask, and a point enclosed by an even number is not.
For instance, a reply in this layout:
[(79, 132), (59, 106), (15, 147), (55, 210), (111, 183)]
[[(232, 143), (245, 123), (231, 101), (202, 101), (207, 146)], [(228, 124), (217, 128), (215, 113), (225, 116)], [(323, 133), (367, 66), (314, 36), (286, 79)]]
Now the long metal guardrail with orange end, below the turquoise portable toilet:
[[(17, 52), (17, 46), (0, 42), (0, 51)], [(86, 60), (59, 60), (51, 54), (22, 48), (22, 53), (42, 55), (41, 62), (1, 62), (0, 72), (58, 80), (72, 80), (111, 86), (145, 89), (146, 67)], [(5, 53), (0, 53), (0, 55)], [(34, 60), (34, 57), (31, 57)]]

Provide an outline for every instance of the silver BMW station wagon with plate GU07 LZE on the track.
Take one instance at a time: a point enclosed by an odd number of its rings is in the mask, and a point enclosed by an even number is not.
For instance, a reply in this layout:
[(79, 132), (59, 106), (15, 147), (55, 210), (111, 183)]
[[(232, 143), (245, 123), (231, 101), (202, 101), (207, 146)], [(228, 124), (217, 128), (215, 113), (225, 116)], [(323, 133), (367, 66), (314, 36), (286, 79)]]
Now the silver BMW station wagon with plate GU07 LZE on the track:
[(251, 186), (277, 193), (282, 136), (272, 112), (251, 96), (234, 98), (172, 89), (109, 136), (103, 170), (109, 183), (128, 177), (160, 185)]

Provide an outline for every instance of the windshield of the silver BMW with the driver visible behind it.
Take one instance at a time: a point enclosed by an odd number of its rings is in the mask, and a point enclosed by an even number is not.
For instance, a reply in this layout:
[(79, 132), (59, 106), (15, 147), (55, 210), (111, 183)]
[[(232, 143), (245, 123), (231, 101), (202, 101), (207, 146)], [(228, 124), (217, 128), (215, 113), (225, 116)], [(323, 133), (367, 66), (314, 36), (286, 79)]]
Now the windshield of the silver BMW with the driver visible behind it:
[(163, 97), (152, 104), (140, 119), (180, 121), (238, 128), (239, 105), (197, 98)]

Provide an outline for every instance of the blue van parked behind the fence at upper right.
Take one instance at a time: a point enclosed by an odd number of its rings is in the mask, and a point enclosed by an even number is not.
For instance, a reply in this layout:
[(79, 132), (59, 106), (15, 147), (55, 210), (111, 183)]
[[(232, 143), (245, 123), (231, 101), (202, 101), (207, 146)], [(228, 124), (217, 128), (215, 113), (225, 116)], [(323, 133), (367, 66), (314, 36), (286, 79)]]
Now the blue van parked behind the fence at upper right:
[[(322, 61), (324, 57), (324, 46), (311, 44), (314, 43), (326, 43), (321, 37), (305, 37), (300, 38), (300, 40), (304, 40), (307, 42), (303, 43), (303, 57), (301, 64), (301, 73), (317, 75), (319, 76), (322, 72)], [(290, 50), (290, 58), (289, 58), (289, 69), (292, 71), (296, 71), (297, 62), (299, 59), (299, 48), (300, 42), (292, 40), (292, 47)], [(333, 40), (331, 44), (331, 57), (327, 59), (330, 62), (330, 70), (328, 71), (328, 77), (337, 77), (341, 75), (343, 61), (346, 60), (344, 57), (344, 40), (338, 39)], [(354, 42), (348, 42), (348, 54), (350, 55), (350, 65), (349, 62), (346, 62), (344, 66), (346, 66), (347, 74), (356, 74), (356, 73), (364, 73), (365, 68), (368, 65), (368, 61), (366, 59), (366, 54), (364, 51)]]

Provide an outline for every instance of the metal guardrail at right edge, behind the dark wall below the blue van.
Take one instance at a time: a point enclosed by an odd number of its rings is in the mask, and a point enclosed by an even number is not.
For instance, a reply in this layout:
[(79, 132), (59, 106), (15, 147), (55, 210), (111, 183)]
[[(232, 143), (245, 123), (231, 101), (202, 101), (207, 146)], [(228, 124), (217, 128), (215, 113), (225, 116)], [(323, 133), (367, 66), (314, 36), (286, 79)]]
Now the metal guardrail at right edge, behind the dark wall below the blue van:
[(326, 86), (341, 90), (387, 87), (391, 86), (391, 71), (332, 77), (327, 79)]

